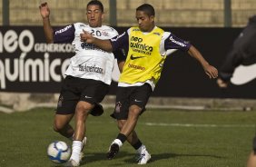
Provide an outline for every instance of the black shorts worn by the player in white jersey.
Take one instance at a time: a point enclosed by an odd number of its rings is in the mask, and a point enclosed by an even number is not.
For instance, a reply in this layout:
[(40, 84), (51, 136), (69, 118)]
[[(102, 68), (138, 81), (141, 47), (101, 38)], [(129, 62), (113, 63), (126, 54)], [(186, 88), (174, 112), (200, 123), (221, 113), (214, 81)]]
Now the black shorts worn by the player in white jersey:
[(70, 114), (75, 112), (79, 101), (101, 103), (109, 91), (109, 85), (101, 81), (66, 76), (59, 96), (56, 113)]

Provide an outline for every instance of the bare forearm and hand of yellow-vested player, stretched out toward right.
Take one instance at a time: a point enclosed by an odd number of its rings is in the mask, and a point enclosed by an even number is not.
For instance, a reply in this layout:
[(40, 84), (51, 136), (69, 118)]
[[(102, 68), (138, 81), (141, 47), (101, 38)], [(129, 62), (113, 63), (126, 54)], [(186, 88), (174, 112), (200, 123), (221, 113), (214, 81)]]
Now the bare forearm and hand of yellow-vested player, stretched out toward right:
[(202, 68), (210, 79), (218, 77), (218, 70), (210, 65), (203, 57), (202, 54), (192, 45), (188, 51), (188, 53), (195, 58), (200, 64), (202, 64)]

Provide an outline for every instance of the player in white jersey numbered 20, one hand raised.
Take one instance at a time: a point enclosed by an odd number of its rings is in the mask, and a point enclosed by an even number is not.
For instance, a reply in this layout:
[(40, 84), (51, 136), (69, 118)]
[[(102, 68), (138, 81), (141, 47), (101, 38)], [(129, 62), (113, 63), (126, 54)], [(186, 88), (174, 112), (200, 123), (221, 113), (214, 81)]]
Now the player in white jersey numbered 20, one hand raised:
[[(92, 0), (87, 4), (88, 25), (75, 23), (55, 31), (50, 24), (50, 9), (47, 3), (43, 3), (39, 8), (47, 42), (74, 45), (75, 55), (70, 59), (65, 72), (66, 77), (54, 116), (54, 131), (73, 140), (72, 155), (66, 165), (79, 166), (86, 140), (85, 121), (89, 113), (94, 116), (103, 113), (100, 103), (109, 91), (114, 57), (118, 54), (118, 62), (120, 67), (123, 67), (125, 55), (121, 51), (108, 53), (94, 44), (81, 41), (83, 30), (100, 39), (111, 39), (118, 35), (112, 27), (102, 25), (103, 4), (100, 1)], [(70, 125), (74, 115), (75, 129)]]

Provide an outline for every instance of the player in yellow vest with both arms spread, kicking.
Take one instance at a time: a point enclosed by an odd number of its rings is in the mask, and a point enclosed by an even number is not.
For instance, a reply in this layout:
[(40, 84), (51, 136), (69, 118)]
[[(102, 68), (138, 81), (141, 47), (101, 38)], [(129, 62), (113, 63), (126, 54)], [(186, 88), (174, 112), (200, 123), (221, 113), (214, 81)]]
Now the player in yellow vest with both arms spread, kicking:
[(154, 24), (154, 15), (152, 5), (140, 5), (136, 9), (138, 26), (129, 28), (111, 40), (97, 39), (85, 31), (81, 34), (82, 41), (95, 44), (107, 52), (120, 47), (128, 52), (123, 73), (119, 79), (115, 110), (112, 114), (113, 118), (117, 119), (120, 133), (109, 148), (108, 159), (112, 159), (119, 152), (126, 140), (140, 154), (138, 164), (145, 164), (151, 159), (151, 155), (139, 140), (134, 128), (161, 76), (167, 50), (178, 49), (188, 52), (202, 64), (205, 74), (210, 78), (218, 76), (217, 69), (210, 65), (192, 44), (157, 27)]

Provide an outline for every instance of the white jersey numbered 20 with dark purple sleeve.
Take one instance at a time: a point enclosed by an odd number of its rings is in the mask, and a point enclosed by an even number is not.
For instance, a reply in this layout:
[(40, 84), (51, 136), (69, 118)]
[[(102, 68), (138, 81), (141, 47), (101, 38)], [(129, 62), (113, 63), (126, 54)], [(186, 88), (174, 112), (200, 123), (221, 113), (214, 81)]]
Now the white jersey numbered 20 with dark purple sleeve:
[(94, 44), (80, 41), (80, 34), (84, 31), (93, 34), (99, 39), (111, 39), (118, 35), (110, 26), (90, 27), (83, 23), (65, 26), (54, 32), (54, 43), (70, 42), (74, 45), (75, 55), (70, 59), (70, 64), (65, 75), (93, 79), (110, 84), (114, 65), (113, 53), (107, 53)]

